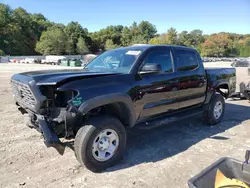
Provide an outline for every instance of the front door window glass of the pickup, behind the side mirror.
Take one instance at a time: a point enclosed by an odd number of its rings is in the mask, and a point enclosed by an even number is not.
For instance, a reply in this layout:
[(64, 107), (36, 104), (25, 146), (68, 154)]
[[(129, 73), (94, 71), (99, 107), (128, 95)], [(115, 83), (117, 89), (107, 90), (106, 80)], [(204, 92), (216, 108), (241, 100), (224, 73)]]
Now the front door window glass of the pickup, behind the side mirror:
[(146, 64), (159, 64), (163, 73), (173, 72), (170, 50), (157, 50), (149, 53), (144, 61), (144, 65)]

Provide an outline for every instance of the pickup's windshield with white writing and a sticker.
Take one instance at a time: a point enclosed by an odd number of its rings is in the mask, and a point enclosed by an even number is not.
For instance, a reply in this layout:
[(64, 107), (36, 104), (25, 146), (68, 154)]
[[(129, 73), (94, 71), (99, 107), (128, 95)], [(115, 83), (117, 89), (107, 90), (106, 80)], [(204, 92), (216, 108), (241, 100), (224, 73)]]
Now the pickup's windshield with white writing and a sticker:
[(91, 61), (84, 69), (93, 72), (129, 73), (142, 50), (117, 49), (107, 51)]

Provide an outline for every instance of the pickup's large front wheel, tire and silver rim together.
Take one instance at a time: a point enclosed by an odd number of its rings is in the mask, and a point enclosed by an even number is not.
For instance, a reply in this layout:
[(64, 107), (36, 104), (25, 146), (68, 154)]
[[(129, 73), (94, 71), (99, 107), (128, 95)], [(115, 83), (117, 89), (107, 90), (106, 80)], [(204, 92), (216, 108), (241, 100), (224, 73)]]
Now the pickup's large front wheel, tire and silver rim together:
[(100, 172), (122, 158), (126, 139), (126, 130), (117, 118), (91, 118), (76, 134), (76, 158), (89, 170)]

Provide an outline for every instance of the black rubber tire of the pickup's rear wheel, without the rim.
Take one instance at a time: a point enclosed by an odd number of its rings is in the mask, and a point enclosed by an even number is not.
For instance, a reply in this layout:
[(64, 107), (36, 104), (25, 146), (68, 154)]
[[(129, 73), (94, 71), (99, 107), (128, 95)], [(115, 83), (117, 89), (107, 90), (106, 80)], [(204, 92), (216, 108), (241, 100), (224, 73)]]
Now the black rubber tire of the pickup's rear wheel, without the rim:
[[(222, 105), (222, 111), (219, 117), (216, 117), (214, 115), (215, 105), (217, 102), (221, 102)], [(207, 108), (204, 111), (205, 122), (208, 123), (209, 125), (216, 125), (221, 122), (224, 113), (225, 113), (225, 100), (221, 94), (215, 93), (212, 96), (210, 103), (208, 104)]]

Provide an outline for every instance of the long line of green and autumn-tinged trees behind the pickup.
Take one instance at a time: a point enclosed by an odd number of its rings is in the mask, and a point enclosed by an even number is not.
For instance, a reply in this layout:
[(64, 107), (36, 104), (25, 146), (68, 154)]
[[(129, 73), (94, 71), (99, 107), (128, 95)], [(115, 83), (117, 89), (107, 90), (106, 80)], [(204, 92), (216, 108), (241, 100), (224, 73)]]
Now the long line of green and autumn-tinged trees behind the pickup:
[(0, 3), (0, 55), (84, 54), (133, 44), (174, 44), (196, 48), (202, 56), (250, 56), (250, 34), (204, 35), (199, 29), (157, 34), (148, 21), (111, 25), (89, 33), (78, 22), (50, 22), (42, 14)]

